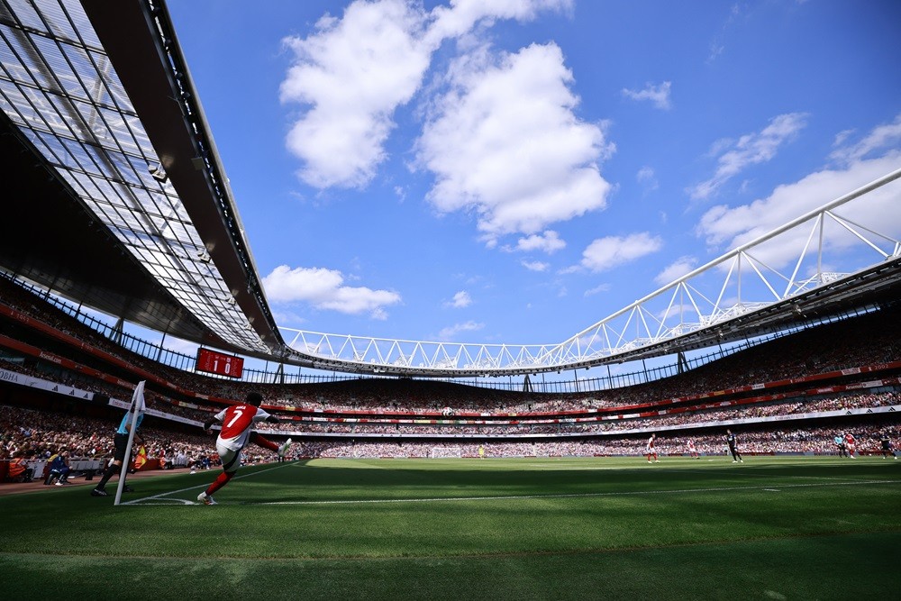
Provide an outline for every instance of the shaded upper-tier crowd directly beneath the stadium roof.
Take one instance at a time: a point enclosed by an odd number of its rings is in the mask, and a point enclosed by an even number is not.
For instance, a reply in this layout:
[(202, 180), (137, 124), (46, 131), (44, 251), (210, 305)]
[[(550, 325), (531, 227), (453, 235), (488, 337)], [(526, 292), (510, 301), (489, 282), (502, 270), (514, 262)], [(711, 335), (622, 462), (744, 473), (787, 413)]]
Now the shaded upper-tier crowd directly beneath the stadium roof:
[[(775, 382), (797, 377), (799, 374), (818, 374), (901, 360), (901, 319), (898, 318), (901, 311), (897, 307), (887, 307), (874, 314), (862, 314), (827, 323), (766, 342), (763, 345), (765, 351), (752, 347), (671, 378), (590, 393), (523, 394), (456, 386), (445, 382), (398, 381), (387, 378), (350, 379), (312, 385), (255, 385), (170, 368), (128, 351), (6, 278), (0, 278), (0, 300), (59, 332), (136, 368), (157, 374), (185, 390), (223, 399), (241, 399), (251, 389), (263, 386), (267, 405), (298, 407), (305, 412), (404, 411), (447, 415), (489, 411), (505, 414), (555, 414), (660, 402), (761, 382)], [(835, 344), (836, 340), (844, 343)], [(41, 365), (41, 368), (59, 370), (56, 365)], [(74, 378), (71, 374), (61, 374), (59, 377)], [(96, 389), (114, 397), (128, 395), (129, 391), (121, 387), (98, 380), (88, 381), (89, 379), (78, 375), (79, 387)], [(150, 391), (153, 387), (148, 389)]]

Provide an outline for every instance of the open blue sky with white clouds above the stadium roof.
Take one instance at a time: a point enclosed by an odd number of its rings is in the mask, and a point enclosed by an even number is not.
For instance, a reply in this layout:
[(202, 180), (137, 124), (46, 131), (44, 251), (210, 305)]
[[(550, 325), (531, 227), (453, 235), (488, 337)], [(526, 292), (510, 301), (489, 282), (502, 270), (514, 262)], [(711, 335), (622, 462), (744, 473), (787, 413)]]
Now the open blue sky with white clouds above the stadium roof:
[(901, 167), (895, 0), (168, 8), (279, 325), (559, 342)]

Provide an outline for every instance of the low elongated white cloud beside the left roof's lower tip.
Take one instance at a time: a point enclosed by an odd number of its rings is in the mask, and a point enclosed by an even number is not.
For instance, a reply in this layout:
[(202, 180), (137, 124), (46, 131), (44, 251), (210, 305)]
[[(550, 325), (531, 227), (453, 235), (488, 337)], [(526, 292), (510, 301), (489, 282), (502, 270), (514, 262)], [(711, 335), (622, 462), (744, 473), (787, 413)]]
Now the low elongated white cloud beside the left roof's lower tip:
[(291, 269), (287, 265), (279, 265), (262, 280), (272, 303), (305, 302), (317, 309), (344, 314), (369, 313), (375, 319), (385, 319), (385, 307), (401, 302), (396, 292), (349, 287), (343, 282), (344, 276), (334, 269)]

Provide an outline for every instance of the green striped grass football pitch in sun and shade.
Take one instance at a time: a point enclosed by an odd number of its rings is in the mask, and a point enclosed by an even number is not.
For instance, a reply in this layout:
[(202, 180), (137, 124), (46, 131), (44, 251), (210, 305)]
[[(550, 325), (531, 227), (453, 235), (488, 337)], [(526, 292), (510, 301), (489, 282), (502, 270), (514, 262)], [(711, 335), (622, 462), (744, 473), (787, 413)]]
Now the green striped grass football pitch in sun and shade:
[[(312, 460), (0, 497), (5, 599), (901, 591), (901, 460)], [(115, 480), (109, 489), (114, 490)]]

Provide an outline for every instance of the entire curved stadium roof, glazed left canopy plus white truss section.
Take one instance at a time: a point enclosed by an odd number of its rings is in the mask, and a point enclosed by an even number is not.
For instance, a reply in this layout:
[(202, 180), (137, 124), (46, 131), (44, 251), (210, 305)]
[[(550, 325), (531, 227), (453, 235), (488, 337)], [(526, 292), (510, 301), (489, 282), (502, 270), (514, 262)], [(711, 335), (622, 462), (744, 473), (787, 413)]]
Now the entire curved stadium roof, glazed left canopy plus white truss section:
[[(13, 200), (0, 268), (226, 351), (360, 373), (527, 374), (715, 345), (901, 297), (901, 242), (878, 218), (861, 221), (878, 215), (874, 204), (896, 205), (899, 169), (560, 343), (279, 329), (161, 0), (0, 0), (0, 67), (0, 175)], [(869, 255), (852, 267), (830, 260), (851, 242)], [(771, 267), (786, 249), (787, 269)]]

